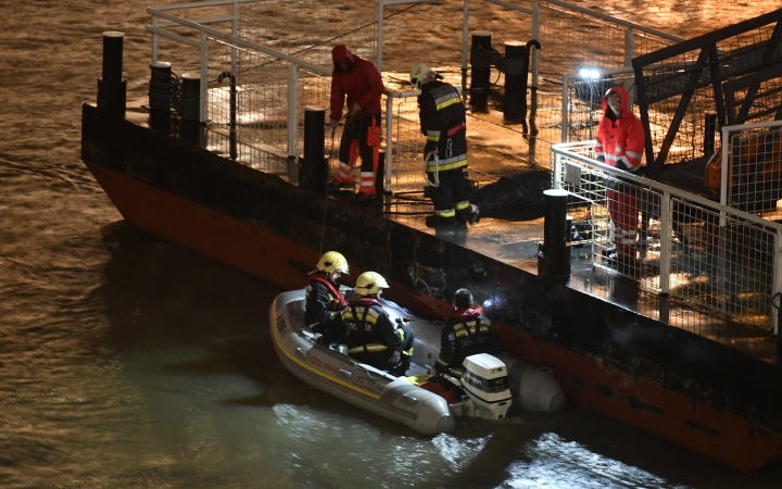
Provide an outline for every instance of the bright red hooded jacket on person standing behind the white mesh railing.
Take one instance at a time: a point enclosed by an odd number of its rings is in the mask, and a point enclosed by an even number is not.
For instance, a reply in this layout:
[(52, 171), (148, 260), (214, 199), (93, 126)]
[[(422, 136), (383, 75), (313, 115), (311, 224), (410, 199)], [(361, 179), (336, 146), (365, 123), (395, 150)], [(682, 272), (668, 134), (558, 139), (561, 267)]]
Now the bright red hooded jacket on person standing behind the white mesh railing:
[[(621, 116), (616, 118), (608, 106), (608, 95), (619, 93), (622, 104)], [(603, 97), (603, 118), (597, 128), (595, 156), (604, 156), (606, 164), (636, 172), (641, 167), (645, 145), (645, 133), (641, 121), (628, 108), (628, 92), (623, 87), (614, 87)], [(616, 121), (614, 121), (616, 118)]]

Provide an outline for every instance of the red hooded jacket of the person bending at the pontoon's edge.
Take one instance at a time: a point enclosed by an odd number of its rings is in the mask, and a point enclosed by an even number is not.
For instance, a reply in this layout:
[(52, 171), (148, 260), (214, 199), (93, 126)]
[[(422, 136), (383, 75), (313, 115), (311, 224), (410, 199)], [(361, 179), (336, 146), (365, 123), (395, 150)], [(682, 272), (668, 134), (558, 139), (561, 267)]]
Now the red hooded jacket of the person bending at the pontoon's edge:
[(358, 102), (364, 115), (380, 113), (380, 95), (383, 91), (382, 78), (370, 61), (350, 52), (346, 46), (339, 45), (331, 50), (335, 66), (344, 62), (352, 66), (346, 73), (335, 70), (331, 73), (331, 113), (329, 117), (339, 121), (348, 96), (348, 110)]

